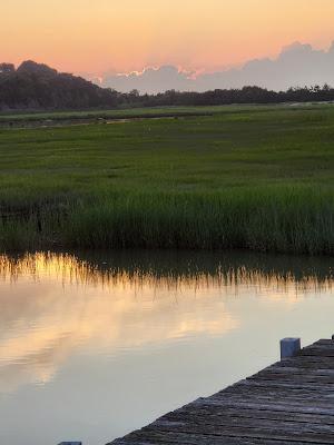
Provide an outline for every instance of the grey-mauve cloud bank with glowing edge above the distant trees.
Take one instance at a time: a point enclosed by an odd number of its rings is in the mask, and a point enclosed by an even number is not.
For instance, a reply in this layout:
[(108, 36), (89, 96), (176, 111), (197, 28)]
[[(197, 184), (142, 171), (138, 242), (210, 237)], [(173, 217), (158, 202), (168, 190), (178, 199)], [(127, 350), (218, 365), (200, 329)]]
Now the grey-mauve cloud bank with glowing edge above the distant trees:
[(315, 50), (311, 44), (293, 43), (284, 48), (277, 59), (250, 60), (242, 68), (205, 73), (196, 79), (191, 73), (164, 66), (148, 68), (143, 73), (105, 76), (102, 87), (128, 92), (156, 93), (175, 89), (179, 91), (207, 91), (224, 88), (258, 86), (274, 90), (328, 83), (334, 86), (334, 42), (328, 50)]

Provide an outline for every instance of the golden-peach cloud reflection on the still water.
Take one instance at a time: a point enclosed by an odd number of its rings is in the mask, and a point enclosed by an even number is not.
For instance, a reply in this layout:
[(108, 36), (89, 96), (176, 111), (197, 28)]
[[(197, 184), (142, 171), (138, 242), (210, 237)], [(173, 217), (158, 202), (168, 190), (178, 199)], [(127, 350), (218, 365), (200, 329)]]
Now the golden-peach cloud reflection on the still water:
[(71, 256), (36, 254), (17, 263), (0, 256), (0, 394), (48, 383), (80, 352), (117, 355), (237, 328), (220, 298), (219, 310), (205, 310), (202, 290), (216, 281), (108, 275)]

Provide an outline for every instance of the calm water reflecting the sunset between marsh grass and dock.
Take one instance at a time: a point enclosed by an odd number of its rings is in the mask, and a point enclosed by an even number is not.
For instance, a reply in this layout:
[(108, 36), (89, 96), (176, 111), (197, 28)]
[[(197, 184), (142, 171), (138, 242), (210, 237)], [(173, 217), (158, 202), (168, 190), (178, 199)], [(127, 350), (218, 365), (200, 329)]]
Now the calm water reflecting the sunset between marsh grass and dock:
[(0, 443), (101, 445), (334, 334), (330, 259), (0, 256)]

